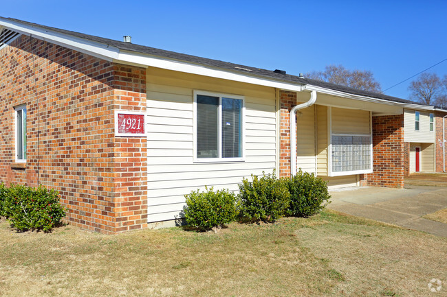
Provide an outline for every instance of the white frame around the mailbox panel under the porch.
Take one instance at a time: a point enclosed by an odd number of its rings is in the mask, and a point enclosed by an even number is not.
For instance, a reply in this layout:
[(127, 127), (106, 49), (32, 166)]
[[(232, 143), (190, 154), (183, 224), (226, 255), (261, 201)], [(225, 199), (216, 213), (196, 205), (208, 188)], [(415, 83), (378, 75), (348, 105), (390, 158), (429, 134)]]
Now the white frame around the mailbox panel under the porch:
[[(349, 134), (349, 133), (332, 133), (332, 108), (329, 106), (327, 108), (328, 119), (327, 119), (327, 176), (351, 176), (356, 174), (371, 174), (373, 172), (373, 114), (369, 112), (369, 134)], [(332, 136), (362, 136), (370, 137), (370, 169), (363, 170), (351, 170), (351, 171), (338, 171), (332, 172)]]

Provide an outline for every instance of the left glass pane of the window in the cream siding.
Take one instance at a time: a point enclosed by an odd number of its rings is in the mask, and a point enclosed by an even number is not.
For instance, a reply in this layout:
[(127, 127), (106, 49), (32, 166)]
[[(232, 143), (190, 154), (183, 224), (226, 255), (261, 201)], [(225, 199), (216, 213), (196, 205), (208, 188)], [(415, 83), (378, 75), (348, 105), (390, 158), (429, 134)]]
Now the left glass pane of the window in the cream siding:
[(219, 97), (197, 95), (197, 158), (218, 158)]

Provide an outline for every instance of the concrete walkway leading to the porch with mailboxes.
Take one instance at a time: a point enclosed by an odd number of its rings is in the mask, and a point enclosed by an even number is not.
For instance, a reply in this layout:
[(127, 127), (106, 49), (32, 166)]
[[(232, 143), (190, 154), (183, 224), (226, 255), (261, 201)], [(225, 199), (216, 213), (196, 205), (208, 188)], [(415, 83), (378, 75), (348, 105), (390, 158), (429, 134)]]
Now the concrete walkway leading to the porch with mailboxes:
[(447, 224), (422, 217), (447, 207), (447, 187), (354, 187), (330, 194), (329, 209), (447, 237)]

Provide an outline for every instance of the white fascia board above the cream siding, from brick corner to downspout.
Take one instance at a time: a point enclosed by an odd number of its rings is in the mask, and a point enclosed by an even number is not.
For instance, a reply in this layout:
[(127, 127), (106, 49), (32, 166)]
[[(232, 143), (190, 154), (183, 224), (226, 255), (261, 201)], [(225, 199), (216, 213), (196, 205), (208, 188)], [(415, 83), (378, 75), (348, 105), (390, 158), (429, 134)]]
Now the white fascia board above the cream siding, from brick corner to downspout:
[(180, 71), (184, 73), (192, 73), (197, 75), (205, 75), (212, 78), (221, 78), (223, 80), (233, 80), (236, 82), (246, 82), (248, 84), (259, 84), (261, 86), (271, 86), (273, 88), (281, 88), (283, 90), (301, 92), (304, 84), (290, 84), (279, 80), (270, 80), (268, 78), (256, 77), (254, 75), (245, 75), (243, 73), (231, 72), (227, 69), (219, 69), (207, 67), (201, 64), (193, 64), (183, 61), (170, 60), (168, 58), (155, 57), (134, 53), (132, 51), (120, 51), (115, 62), (128, 62), (133, 64), (141, 64), (150, 67)]

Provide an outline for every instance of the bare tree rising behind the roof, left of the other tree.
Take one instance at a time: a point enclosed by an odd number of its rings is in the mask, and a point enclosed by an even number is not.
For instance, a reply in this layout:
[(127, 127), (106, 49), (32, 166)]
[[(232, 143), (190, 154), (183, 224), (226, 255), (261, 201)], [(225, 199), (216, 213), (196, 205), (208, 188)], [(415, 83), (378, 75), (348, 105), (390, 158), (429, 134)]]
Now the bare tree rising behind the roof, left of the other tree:
[(350, 71), (342, 65), (328, 65), (325, 67), (325, 71), (312, 71), (305, 75), (313, 80), (323, 80), (324, 82), (350, 86), (364, 91), (382, 92), (380, 83), (375, 80), (373, 73), (369, 70)]

